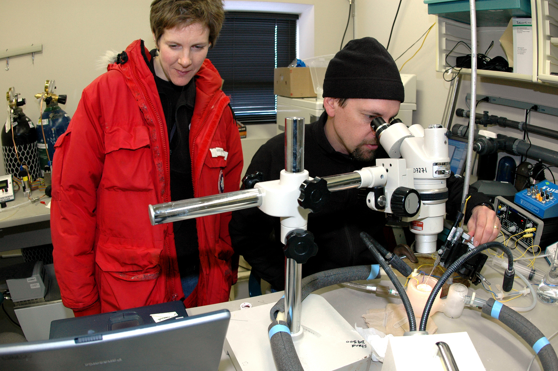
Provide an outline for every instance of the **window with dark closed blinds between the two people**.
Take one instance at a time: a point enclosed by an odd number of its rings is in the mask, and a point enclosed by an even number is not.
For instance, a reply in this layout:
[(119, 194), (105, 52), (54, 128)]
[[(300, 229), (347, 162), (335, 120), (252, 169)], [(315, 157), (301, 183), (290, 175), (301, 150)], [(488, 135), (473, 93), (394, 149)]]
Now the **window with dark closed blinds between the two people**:
[(296, 58), (298, 15), (260, 12), (226, 12), (223, 28), (208, 58), (225, 80), (238, 121), (275, 123), (276, 96), (273, 69)]

